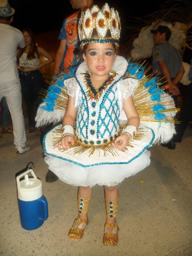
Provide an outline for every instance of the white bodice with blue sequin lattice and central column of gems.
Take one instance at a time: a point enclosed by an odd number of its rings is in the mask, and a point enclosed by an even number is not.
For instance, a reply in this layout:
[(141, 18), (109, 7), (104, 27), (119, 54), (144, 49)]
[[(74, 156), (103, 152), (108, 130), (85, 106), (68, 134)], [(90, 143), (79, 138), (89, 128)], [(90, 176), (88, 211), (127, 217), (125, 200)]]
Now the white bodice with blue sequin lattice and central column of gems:
[(85, 85), (80, 84), (80, 87), (82, 97), (77, 107), (77, 135), (82, 139), (99, 140), (118, 133), (120, 110), (116, 83), (109, 84), (98, 101), (88, 100)]

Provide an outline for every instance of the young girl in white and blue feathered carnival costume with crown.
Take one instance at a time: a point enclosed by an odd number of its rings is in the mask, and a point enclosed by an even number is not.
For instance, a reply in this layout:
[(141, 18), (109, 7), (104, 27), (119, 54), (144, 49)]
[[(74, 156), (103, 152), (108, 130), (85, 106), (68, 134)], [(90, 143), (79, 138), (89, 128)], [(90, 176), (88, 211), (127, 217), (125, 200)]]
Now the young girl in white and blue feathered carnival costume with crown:
[(118, 242), (118, 185), (149, 165), (148, 147), (173, 136), (176, 114), (155, 77), (117, 56), (120, 28), (118, 12), (108, 4), (82, 13), (78, 34), (84, 62), (74, 77), (62, 74), (50, 86), (36, 117), (37, 125), (59, 121), (66, 109), (62, 125), (44, 137), (44, 160), (60, 180), (78, 186), (78, 217), (68, 237), (83, 237), (98, 184), (105, 191), (103, 244), (110, 246)]

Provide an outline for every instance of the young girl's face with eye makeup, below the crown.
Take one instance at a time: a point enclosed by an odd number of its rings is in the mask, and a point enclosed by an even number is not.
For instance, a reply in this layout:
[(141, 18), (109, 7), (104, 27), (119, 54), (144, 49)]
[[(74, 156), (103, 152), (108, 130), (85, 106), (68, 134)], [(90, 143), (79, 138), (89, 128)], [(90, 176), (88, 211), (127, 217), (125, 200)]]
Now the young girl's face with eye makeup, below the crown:
[(92, 78), (100, 76), (108, 77), (115, 61), (116, 53), (112, 43), (89, 43), (83, 58), (91, 71)]

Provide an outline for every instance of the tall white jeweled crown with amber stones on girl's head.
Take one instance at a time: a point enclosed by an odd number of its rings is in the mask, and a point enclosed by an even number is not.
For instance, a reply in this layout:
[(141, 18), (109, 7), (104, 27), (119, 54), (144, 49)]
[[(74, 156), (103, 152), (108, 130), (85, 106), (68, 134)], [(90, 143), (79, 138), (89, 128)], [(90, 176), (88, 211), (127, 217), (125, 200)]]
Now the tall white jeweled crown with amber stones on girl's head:
[(104, 4), (102, 10), (97, 5), (82, 12), (78, 23), (78, 36), (83, 49), (87, 43), (115, 43), (119, 46), (121, 24), (114, 8)]

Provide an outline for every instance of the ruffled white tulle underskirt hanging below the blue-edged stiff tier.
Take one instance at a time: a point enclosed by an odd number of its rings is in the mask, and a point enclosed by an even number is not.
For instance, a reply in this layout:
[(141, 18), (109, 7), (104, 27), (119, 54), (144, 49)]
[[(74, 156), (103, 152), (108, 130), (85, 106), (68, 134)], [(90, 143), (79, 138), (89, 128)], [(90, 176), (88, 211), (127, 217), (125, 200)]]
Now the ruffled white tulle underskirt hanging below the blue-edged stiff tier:
[(93, 187), (96, 184), (116, 186), (150, 164), (150, 151), (146, 150), (126, 165), (99, 165), (84, 168), (52, 156), (45, 156), (44, 160), (60, 180), (73, 186)]

